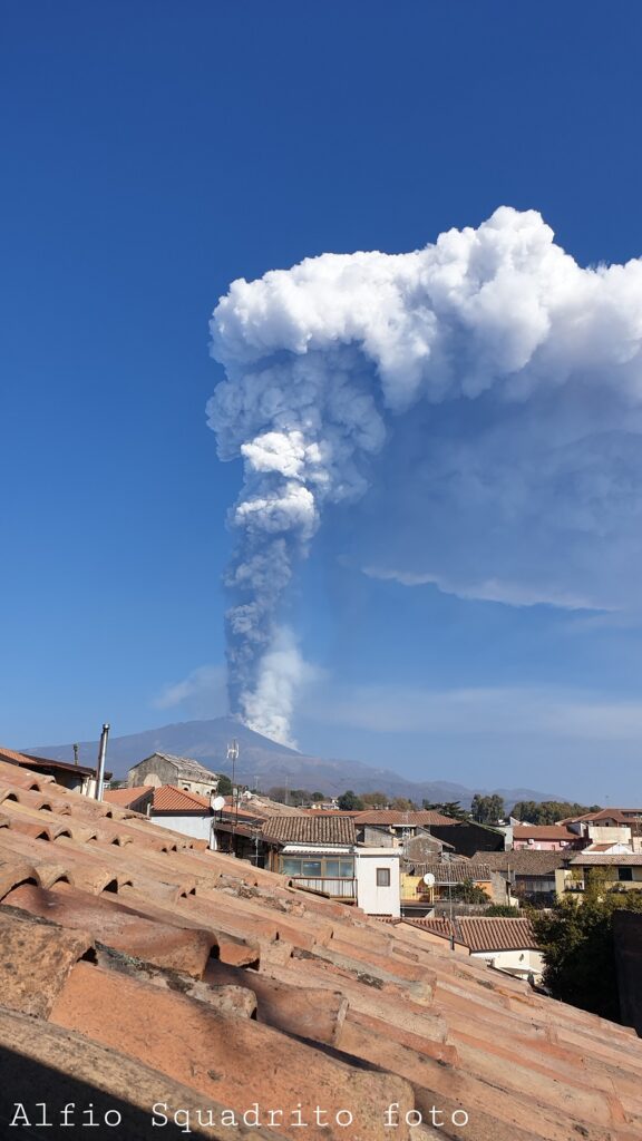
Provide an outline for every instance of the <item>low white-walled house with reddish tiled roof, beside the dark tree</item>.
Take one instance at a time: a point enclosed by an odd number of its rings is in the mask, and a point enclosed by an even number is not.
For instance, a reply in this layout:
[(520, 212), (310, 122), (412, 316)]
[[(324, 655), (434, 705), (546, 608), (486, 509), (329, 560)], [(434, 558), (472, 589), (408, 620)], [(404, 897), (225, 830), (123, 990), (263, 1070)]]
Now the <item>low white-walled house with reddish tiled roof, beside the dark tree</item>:
[(441, 940), (454, 950), (465, 949), (498, 971), (540, 982), (544, 957), (530, 920), (499, 916), (402, 920), (416, 925), (431, 941)]

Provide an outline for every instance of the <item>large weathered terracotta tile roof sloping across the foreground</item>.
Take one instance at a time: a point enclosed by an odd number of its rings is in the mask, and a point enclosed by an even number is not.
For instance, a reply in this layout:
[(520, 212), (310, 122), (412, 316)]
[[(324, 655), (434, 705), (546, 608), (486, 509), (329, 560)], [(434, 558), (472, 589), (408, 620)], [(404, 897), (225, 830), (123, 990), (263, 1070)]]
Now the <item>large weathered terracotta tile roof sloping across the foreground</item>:
[[(3, 1122), (91, 1102), (122, 1114), (95, 1141), (144, 1141), (167, 1103), (198, 1138), (299, 1141), (299, 1107), (306, 1141), (390, 1141), (396, 1103), (394, 1141), (433, 1106), (471, 1141), (641, 1134), (633, 1031), (1, 763), (0, 938)], [(255, 1102), (263, 1125), (220, 1125)]]

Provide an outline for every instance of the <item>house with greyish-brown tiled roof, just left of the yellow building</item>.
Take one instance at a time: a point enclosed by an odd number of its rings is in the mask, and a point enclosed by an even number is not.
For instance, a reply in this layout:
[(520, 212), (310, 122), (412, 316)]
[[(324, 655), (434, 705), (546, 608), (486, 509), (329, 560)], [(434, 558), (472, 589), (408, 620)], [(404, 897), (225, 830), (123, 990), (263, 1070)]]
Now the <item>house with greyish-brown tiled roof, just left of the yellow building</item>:
[(533, 851), (525, 848), (514, 852), (479, 851), (473, 860), (483, 860), (490, 867), (493, 903), (523, 900), (546, 906), (555, 900), (555, 874), (571, 856), (572, 852)]

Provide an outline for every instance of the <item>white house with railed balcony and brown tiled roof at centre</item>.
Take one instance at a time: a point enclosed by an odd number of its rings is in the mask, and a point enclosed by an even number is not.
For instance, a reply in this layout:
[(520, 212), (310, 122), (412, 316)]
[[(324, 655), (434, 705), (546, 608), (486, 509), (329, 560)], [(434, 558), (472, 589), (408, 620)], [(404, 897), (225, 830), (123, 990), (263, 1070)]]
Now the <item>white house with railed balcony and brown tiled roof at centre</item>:
[(267, 866), (298, 888), (356, 904), (369, 915), (400, 914), (400, 852), (358, 845), (351, 816), (272, 817), (262, 839)]

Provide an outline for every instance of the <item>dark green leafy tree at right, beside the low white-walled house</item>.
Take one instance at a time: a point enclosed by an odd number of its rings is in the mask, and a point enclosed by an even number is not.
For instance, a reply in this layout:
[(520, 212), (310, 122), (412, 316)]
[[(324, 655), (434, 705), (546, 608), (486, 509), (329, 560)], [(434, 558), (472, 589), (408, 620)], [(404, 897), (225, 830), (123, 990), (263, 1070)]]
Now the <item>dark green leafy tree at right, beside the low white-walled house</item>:
[(584, 899), (565, 896), (551, 911), (531, 914), (553, 997), (615, 1021), (613, 914), (619, 909), (642, 912), (642, 891), (620, 891), (607, 875), (593, 874)]

